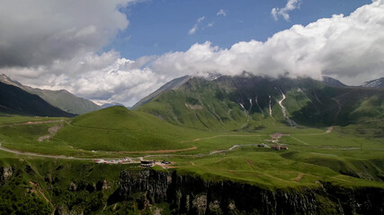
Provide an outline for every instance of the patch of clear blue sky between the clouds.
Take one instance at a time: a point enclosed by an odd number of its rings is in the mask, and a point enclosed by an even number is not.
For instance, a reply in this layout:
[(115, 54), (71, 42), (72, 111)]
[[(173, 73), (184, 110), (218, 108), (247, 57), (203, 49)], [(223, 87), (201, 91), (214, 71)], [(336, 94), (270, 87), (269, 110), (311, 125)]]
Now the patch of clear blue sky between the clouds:
[[(368, 0), (303, 0), (290, 12), (290, 21), (279, 17), (275, 21), (272, 8), (282, 8), (285, 0), (149, 0), (129, 4), (121, 11), (127, 15), (129, 26), (122, 30), (104, 51), (115, 49), (121, 56), (161, 55), (185, 51), (195, 43), (211, 41), (222, 48), (239, 41), (265, 41), (280, 30), (294, 24), (307, 25), (333, 14), (352, 13)], [(223, 10), (226, 16), (218, 15)], [(200, 17), (200, 29), (188, 31)], [(213, 26), (208, 27), (209, 24)]]

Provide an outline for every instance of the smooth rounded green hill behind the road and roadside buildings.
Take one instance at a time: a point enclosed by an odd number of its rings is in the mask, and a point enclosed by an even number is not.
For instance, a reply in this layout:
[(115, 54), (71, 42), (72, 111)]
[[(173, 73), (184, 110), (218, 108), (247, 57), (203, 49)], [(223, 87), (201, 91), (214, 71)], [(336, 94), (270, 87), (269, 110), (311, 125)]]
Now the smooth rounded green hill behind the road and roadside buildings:
[(175, 150), (190, 147), (180, 141), (192, 134), (155, 116), (116, 106), (75, 117), (55, 138), (83, 150)]

